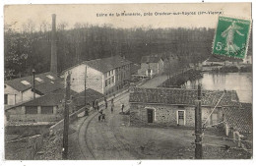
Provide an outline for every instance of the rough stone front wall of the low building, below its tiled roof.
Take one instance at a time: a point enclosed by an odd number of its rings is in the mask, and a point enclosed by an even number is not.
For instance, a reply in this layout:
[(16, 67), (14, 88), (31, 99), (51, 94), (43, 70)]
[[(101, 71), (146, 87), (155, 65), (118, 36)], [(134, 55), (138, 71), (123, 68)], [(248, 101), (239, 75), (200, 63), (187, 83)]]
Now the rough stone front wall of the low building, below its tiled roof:
[[(153, 123), (148, 123), (147, 109), (153, 109)], [(185, 127), (195, 126), (195, 107), (193, 106), (171, 106), (171, 105), (157, 105), (157, 104), (136, 104), (131, 103), (130, 105), (130, 124), (132, 126), (140, 125), (162, 125), (162, 126), (178, 126), (177, 111), (184, 110)], [(202, 107), (202, 122), (211, 114), (213, 108)], [(217, 113), (218, 122), (223, 121), (222, 111), (217, 108), (214, 114)], [(207, 121), (207, 125), (216, 123), (213, 121), (213, 117), (210, 116)]]

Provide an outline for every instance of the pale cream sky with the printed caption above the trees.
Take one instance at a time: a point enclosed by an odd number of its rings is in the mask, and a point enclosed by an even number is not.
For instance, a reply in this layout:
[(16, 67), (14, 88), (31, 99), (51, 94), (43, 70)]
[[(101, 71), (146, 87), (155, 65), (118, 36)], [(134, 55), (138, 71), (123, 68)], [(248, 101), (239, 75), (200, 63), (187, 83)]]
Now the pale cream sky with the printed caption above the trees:
[[(140, 13), (140, 16), (116, 16), (116, 13)], [(32, 20), (35, 26), (44, 21), (51, 23), (51, 15), (57, 15), (57, 25), (68, 23), (73, 28), (76, 23), (90, 25), (112, 25), (114, 28), (216, 28), (219, 14), (222, 16), (251, 19), (251, 3), (194, 3), (194, 4), (107, 4), (107, 5), (9, 5), (4, 8), (4, 24), (16, 23), (13, 28), (21, 30), (22, 25)], [(156, 16), (157, 13), (171, 13)], [(180, 13), (174, 16), (174, 12)], [(181, 14), (187, 12), (189, 15)], [(199, 15), (198, 12), (206, 12)], [(113, 14), (112, 17), (109, 14)], [(152, 16), (144, 16), (151, 13)], [(96, 17), (107, 14), (107, 17)]]

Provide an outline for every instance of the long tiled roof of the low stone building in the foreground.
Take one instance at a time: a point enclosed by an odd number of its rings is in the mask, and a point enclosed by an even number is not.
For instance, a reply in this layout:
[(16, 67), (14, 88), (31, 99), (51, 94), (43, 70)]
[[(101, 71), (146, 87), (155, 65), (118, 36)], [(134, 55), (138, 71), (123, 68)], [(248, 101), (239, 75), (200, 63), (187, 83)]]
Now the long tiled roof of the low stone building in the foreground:
[[(223, 96), (218, 107), (238, 101), (235, 90), (202, 90), (202, 106), (214, 107)], [(151, 103), (167, 105), (195, 105), (197, 89), (184, 88), (142, 88), (134, 87), (130, 93), (131, 103)]]

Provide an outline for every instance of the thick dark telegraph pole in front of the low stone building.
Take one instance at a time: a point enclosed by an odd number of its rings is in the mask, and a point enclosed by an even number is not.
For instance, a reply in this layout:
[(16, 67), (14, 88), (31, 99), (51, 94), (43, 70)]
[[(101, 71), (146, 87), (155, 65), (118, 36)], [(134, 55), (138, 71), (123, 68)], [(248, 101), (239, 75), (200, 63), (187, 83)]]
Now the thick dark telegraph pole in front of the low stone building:
[(196, 100), (195, 108), (195, 158), (202, 159), (203, 149), (202, 149), (202, 109), (201, 109), (201, 84), (198, 84), (198, 94)]

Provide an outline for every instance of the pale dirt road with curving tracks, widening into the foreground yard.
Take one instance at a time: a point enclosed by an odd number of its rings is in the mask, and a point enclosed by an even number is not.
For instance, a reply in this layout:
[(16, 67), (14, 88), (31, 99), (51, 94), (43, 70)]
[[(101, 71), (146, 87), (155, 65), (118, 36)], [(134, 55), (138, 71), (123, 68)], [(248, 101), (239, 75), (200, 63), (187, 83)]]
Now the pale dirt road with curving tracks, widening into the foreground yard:
[[(80, 119), (76, 144), (73, 138), (70, 159), (87, 160), (130, 160), (178, 158), (180, 152), (191, 145), (192, 131), (179, 129), (138, 128), (129, 126), (129, 115), (120, 115), (121, 103), (125, 111), (129, 108), (129, 94), (125, 93), (114, 101), (115, 109), (104, 110), (105, 122), (98, 122), (98, 113)], [(178, 141), (177, 141), (178, 140)], [(72, 148), (73, 147), (73, 148)], [(185, 153), (185, 152), (184, 152)], [(191, 157), (191, 151), (186, 152)]]

